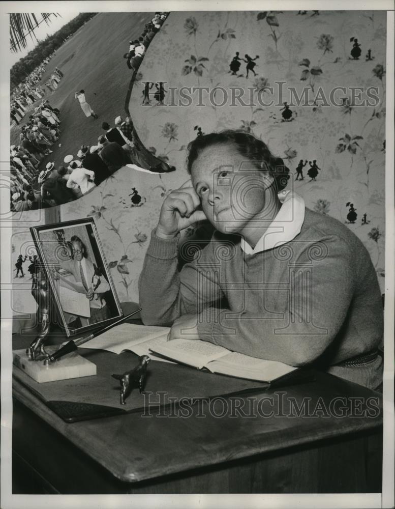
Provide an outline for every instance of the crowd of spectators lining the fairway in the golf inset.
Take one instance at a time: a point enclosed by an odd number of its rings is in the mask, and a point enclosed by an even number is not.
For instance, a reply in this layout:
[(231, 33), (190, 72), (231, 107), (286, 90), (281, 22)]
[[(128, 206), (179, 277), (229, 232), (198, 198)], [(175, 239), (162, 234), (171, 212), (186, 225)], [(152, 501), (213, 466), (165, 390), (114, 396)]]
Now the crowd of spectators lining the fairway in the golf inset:
[[(128, 67), (138, 69), (146, 48), (160, 30), (167, 15), (165, 12), (157, 12), (145, 25), (139, 39), (130, 41), (129, 52), (124, 55), (128, 59)], [(39, 98), (36, 89), (40, 90), (38, 82), (45, 70), (45, 64), (46, 61), (29, 75), (23, 87), (20, 87), (24, 90), (19, 90), (13, 98), (18, 104), (16, 113), (20, 119), (29, 113), (29, 106)], [(62, 76), (63, 73), (55, 68), (45, 82), (48, 89), (55, 89)], [(31, 94), (32, 97), (29, 97)], [(45, 169), (39, 171), (40, 161), (52, 153), (51, 146), (59, 138), (59, 115), (59, 110), (52, 108), (49, 101), (43, 99), (40, 105), (34, 108), (34, 113), (29, 115), (28, 123), (20, 128), (19, 145), (11, 146), (12, 211), (34, 210), (72, 202), (125, 165), (139, 171), (156, 173), (175, 169), (163, 161), (158, 161), (135, 139), (129, 117), (123, 119), (117, 116), (113, 126), (108, 122), (102, 123), (102, 132), (93, 145), (82, 145), (75, 155), (67, 155), (61, 164), (48, 162)], [(17, 117), (15, 121), (18, 123)]]

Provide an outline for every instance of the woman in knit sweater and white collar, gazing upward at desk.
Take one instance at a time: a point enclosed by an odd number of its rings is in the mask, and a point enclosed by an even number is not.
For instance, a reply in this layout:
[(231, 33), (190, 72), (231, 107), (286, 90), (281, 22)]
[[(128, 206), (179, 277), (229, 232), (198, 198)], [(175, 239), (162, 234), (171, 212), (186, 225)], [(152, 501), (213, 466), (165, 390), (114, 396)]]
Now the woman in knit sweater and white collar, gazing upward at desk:
[[(151, 235), (139, 281), (144, 324), (171, 325), (170, 340), (200, 338), (379, 388), (383, 310), (362, 242), (283, 192), (288, 168), (252, 134), (199, 136), (188, 172)], [(194, 257), (183, 249), (190, 258), (178, 271), (179, 232), (205, 218), (214, 235)]]

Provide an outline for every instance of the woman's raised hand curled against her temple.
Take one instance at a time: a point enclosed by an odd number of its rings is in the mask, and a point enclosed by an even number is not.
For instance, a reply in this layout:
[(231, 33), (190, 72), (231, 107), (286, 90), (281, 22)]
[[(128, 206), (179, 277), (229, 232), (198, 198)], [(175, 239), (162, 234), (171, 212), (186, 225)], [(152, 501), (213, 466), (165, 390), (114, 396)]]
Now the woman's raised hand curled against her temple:
[(156, 229), (157, 237), (173, 238), (191, 224), (207, 219), (204, 212), (198, 210), (199, 207), (200, 199), (190, 180), (171, 191), (161, 208)]

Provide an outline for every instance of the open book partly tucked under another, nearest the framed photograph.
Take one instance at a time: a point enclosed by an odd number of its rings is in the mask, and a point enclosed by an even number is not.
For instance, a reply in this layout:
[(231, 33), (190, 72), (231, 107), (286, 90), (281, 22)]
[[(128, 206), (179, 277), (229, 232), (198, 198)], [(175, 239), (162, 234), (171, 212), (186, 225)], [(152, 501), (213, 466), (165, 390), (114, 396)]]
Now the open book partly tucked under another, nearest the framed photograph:
[[(139, 356), (148, 355), (153, 360), (172, 362), (158, 357), (158, 355), (150, 350), (165, 344), (169, 331), (170, 327), (151, 327), (122, 323), (94, 337), (93, 340), (84, 343), (82, 348), (107, 350), (116, 354), (130, 350)], [(174, 364), (174, 362), (172, 363)]]

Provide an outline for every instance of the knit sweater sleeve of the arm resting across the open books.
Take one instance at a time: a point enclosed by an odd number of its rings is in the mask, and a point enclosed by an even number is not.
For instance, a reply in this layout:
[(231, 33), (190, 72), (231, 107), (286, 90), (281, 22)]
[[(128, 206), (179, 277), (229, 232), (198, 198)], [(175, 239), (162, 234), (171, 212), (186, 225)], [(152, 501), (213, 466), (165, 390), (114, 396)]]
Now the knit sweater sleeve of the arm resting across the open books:
[(282, 318), (208, 307), (199, 316), (199, 337), (229, 350), (294, 366), (316, 360), (346, 319), (355, 281), (346, 242), (333, 236), (323, 245), (325, 256), (314, 260), (312, 243), (290, 269), (289, 298), (286, 307), (278, 309)]

